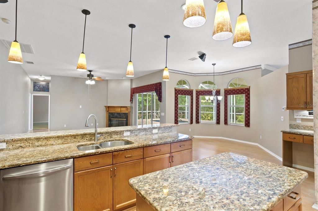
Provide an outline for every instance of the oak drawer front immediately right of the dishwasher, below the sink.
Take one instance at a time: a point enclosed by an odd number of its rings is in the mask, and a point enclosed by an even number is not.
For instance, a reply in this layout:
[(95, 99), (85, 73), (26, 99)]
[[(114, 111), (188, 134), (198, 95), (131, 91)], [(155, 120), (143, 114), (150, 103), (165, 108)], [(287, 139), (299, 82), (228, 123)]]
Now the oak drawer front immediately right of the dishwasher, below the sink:
[(94, 169), (113, 164), (112, 153), (80, 157), (74, 159), (74, 171)]

